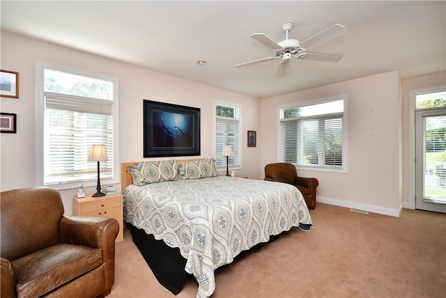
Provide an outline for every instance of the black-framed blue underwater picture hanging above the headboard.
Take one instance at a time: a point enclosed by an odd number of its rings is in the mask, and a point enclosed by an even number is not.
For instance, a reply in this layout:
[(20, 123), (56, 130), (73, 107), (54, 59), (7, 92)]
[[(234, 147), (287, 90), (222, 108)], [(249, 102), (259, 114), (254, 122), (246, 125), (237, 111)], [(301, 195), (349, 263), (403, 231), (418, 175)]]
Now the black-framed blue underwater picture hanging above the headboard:
[(143, 100), (144, 157), (200, 155), (200, 109)]

